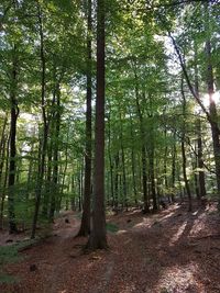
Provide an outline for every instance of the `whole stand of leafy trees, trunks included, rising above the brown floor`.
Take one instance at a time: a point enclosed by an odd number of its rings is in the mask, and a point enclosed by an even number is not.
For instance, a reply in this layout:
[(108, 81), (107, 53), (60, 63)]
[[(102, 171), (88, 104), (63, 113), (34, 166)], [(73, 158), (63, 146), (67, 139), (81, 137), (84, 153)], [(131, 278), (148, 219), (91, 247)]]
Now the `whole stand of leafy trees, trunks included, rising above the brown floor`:
[(2, 0), (1, 228), (34, 238), (82, 210), (107, 247), (105, 206), (220, 203), (219, 15), (218, 0)]

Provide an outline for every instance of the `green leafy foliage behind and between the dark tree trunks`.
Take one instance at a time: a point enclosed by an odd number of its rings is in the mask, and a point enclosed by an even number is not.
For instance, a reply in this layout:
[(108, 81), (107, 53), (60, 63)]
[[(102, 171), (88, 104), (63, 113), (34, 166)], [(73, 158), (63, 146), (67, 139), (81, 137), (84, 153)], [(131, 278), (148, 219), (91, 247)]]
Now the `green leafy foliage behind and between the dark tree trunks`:
[[(3, 1), (0, 4), (0, 158), (3, 164), (0, 170), (0, 191), (3, 194), (2, 202), (4, 196), (6, 216), (10, 97), (15, 92), (20, 114), (16, 127), (14, 210), (19, 227), (23, 225), (30, 228), (44, 129), (41, 101), (41, 37), (36, 15), (40, 11), (46, 66), (43, 108), (46, 112), (48, 142), (40, 207), (40, 223), (46, 225), (53, 196), (55, 212), (58, 213), (64, 207), (70, 207), (70, 200), (75, 209), (78, 209), (84, 194), (87, 3), (68, 0), (14, 1), (15, 4), (8, 10), (8, 2)], [(193, 87), (197, 66), (201, 97), (207, 92), (205, 43), (207, 36), (210, 36), (215, 86), (218, 90), (219, 5), (215, 1), (209, 3), (208, 27), (202, 1), (179, 5), (161, 0), (146, 2), (107, 0), (105, 184), (109, 203), (116, 202), (118, 196), (118, 204), (123, 206), (143, 201), (143, 146), (146, 153), (148, 190), (152, 184), (152, 159), (154, 181), (160, 196), (175, 195), (184, 190), (180, 150), (183, 135), (190, 185), (195, 189), (195, 174), (198, 176), (199, 171), (206, 170), (207, 190), (216, 191), (215, 176), (211, 174), (215, 170), (212, 147), (206, 115), (201, 112), (198, 114), (185, 81), (186, 110), (183, 113), (183, 72), (167, 33), (172, 32), (177, 42)], [(95, 9), (94, 7), (94, 26), (89, 32), (92, 41), (92, 125), (96, 97)], [(12, 72), (14, 68), (15, 80)], [(3, 133), (4, 113), (8, 121)], [(198, 119), (202, 128), (202, 155), (206, 164), (204, 168), (195, 166), (198, 153)], [(151, 198), (151, 192), (147, 195)]]

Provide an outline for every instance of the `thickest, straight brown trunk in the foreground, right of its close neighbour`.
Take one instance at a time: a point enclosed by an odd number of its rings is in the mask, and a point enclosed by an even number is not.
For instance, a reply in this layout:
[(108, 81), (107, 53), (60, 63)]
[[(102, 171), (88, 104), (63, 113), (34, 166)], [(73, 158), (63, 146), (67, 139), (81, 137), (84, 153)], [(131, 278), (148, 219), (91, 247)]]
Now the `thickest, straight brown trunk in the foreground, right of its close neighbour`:
[(105, 212), (105, 0), (97, 1), (97, 101), (92, 230), (87, 247), (107, 248)]

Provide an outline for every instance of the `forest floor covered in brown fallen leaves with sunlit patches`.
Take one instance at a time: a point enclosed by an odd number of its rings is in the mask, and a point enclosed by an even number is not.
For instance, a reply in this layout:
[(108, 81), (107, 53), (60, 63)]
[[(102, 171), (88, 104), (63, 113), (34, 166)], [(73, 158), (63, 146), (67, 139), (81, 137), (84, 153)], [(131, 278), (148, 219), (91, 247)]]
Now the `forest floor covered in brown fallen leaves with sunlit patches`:
[(4, 267), (18, 281), (0, 284), (0, 292), (220, 292), (220, 218), (213, 205), (193, 213), (177, 204), (151, 215), (124, 212), (108, 222), (118, 227), (108, 232), (109, 250), (85, 255), (87, 239), (75, 238), (79, 217), (65, 213), (53, 236)]

